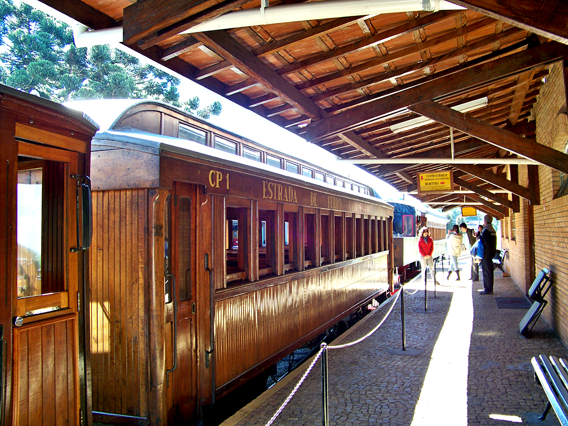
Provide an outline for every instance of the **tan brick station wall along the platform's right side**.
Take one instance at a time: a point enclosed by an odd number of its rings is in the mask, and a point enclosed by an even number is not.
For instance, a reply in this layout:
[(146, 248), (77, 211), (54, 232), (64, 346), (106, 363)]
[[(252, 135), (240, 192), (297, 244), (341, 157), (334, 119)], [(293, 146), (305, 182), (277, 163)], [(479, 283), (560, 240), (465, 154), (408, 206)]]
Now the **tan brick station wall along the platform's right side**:
[[(536, 139), (558, 151), (568, 148), (566, 85), (562, 62), (549, 67), (533, 109)], [(509, 172), (510, 176), (510, 172)], [(527, 186), (527, 166), (519, 166), (519, 183)], [(519, 213), (502, 221), (502, 247), (508, 249), (506, 270), (522, 291), (531, 286), (536, 272), (548, 268), (554, 285), (540, 320), (546, 321), (568, 346), (568, 195), (557, 196), (561, 173), (538, 166), (540, 205), (521, 199)], [(533, 214), (531, 214), (533, 210)], [(534, 218), (534, 266), (531, 265), (531, 216)]]

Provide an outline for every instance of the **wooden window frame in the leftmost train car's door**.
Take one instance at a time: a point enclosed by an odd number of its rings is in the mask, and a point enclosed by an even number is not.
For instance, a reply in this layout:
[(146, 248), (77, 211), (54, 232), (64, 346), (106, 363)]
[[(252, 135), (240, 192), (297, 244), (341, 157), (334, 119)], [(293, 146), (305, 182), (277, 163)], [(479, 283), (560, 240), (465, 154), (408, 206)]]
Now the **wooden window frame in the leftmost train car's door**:
[[(39, 261), (35, 256), (36, 261), (28, 262), (28, 266), (35, 268), (35, 276), (40, 279), (40, 287), (33, 291), (34, 294), (23, 288), (24, 283), (27, 283), (26, 275), (30, 277), (28, 273), (30, 271), (24, 270), (21, 266), (21, 261), (26, 262), (24, 252), (27, 250), (18, 249), (16, 265), (20, 266), (16, 266), (18, 279), (15, 280), (15, 285), (20, 288), (16, 288), (15, 292), (15, 316), (22, 317), (69, 308), (69, 294), (77, 291), (76, 288), (71, 288), (77, 277), (73, 268), (70, 268), (69, 258), (73, 255), (69, 253), (71, 244), (75, 244), (72, 241), (76, 240), (74, 214), (76, 197), (70, 195), (70, 191), (76, 186), (76, 181), (74, 179), (71, 181), (70, 176), (77, 171), (78, 156), (76, 152), (19, 141), (18, 172), (37, 169), (38, 166), (43, 168), (41, 188), (36, 189), (36, 192), (41, 191), (41, 235), (40, 243), (35, 243), (40, 244), (40, 253)], [(16, 190), (18, 204), (22, 190), (21, 187)], [(26, 207), (19, 206), (18, 210), (23, 212), (22, 208)], [(24, 220), (20, 212), (17, 216), (25, 225), (18, 226), (16, 222), (16, 235), (23, 229), (33, 232), (29, 221)], [(16, 236), (18, 247), (23, 245), (20, 244), (23, 239), (22, 234)]]

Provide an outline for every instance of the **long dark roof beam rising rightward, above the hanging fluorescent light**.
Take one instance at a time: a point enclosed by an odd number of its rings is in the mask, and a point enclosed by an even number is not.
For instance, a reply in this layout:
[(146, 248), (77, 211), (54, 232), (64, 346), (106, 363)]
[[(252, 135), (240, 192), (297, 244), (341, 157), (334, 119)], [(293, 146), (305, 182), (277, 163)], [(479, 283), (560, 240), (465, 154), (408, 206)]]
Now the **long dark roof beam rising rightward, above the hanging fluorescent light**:
[(382, 116), (403, 110), (408, 105), (443, 98), (483, 84), (487, 85), (537, 66), (558, 61), (565, 55), (568, 55), (568, 47), (557, 43), (545, 43), (493, 61), (483, 62), (311, 123), (306, 127), (306, 139), (315, 141), (339, 132), (353, 130)]

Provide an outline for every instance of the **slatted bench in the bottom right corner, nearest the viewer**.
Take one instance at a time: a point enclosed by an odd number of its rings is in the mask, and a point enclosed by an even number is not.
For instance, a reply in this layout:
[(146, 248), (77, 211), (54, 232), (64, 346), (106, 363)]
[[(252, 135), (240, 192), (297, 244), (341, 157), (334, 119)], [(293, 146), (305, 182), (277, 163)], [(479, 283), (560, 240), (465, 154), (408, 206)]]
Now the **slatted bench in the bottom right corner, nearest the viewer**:
[(546, 357), (539, 355), (533, 357), (531, 363), (534, 368), (534, 375), (542, 385), (548, 403), (539, 417), (545, 420), (550, 408), (554, 410), (558, 420), (563, 426), (568, 426), (568, 369), (566, 362), (562, 358), (554, 356)]

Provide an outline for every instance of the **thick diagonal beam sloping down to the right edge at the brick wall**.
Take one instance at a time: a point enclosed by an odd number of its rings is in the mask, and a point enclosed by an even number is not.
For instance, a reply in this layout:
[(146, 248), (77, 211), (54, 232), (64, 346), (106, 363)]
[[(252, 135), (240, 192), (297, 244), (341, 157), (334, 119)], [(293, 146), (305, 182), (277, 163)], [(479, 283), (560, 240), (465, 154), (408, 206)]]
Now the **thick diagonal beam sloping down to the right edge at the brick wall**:
[(527, 157), (560, 172), (568, 173), (568, 154), (531, 139), (525, 139), (513, 132), (483, 122), (468, 114), (452, 110), (440, 103), (428, 101), (408, 107), (411, 111), (453, 127), (496, 147), (506, 149), (521, 157)]

